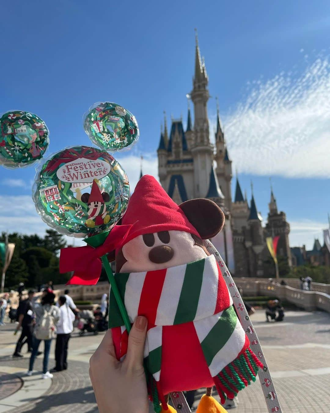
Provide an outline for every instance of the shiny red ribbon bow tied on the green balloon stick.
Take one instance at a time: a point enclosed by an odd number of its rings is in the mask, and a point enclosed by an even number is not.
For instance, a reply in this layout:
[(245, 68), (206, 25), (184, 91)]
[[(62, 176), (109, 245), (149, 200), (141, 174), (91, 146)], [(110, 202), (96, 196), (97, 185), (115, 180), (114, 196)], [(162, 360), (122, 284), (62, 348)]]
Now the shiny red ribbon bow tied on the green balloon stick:
[(116, 225), (106, 237), (102, 245), (93, 248), (68, 247), (61, 249), (59, 260), (60, 273), (74, 271), (67, 284), (95, 285), (100, 278), (102, 262), (101, 257), (116, 248), (120, 248), (133, 225)]

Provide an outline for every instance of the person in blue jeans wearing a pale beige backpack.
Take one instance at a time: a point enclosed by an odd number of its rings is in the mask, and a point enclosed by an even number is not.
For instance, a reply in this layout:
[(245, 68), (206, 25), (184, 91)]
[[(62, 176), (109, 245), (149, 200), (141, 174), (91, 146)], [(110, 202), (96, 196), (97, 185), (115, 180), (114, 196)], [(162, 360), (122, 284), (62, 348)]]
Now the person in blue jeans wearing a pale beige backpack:
[(55, 294), (52, 290), (47, 289), (45, 295), (41, 299), (41, 305), (35, 308), (35, 330), (33, 337), (32, 354), (29, 363), (28, 376), (33, 373), (33, 364), (37, 356), (40, 342), (45, 342), (42, 378), (52, 378), (53, 375), (48, 371), (48, 358), (50, 352), (50, 344), (55, 335), (56, 325), (59, 322), (59, 309), (54, 306)]

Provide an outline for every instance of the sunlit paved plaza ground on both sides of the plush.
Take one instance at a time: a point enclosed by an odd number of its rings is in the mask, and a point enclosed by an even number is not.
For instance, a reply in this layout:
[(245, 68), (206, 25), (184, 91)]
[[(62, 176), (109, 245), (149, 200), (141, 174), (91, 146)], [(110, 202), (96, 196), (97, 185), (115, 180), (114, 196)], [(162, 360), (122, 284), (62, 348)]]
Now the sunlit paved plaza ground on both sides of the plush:
[[(264, 311), (257, 311), (252, 316), (252, 322), (271, 370), (283, 412), (329, 412), (330, 315), (288, 311), (283, 323), (266, 323)], [(14, 324), (0, 327), (0, 413), (97, 412), (88, 362), (103, 334), (79, 337), (73, 333), (69, 344), (68, 370), (54, 374), (52, 380), (42, 380), (39, 373), (25, 376), (27, 354), (22, 359), (12, 358), (18, 338), (18, 335), (13, 335), (14, 328)], [(50, 368), (53, 367), (53, 358), (54, 343)], [(40, 370), (41, 363), (42, 356), (39, 356), (35, 369)], [(231, 411), (266, 413), (260, 385), (255, 383), (240, 392), (238, 407)]]

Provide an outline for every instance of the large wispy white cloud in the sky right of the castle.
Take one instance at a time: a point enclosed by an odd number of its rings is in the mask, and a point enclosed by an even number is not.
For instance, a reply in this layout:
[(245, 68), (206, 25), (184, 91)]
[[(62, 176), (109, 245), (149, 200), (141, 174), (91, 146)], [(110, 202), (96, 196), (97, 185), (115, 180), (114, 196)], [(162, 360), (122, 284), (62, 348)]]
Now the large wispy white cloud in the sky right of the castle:
[(319, 57), (296, 78), (281, 72), (253, 81), (224, 117), (239, 172), (288, 177), (330, 173), (330, 60)]

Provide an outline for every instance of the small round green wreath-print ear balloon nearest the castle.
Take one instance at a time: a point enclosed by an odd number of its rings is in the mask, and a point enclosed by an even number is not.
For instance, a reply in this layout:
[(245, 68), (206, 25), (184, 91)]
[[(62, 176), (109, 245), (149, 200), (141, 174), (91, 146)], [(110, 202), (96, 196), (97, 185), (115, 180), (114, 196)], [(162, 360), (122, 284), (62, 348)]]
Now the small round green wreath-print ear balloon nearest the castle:
[(90, 140), (110, 152), (130, 149), (139, 139), (135, 116), (117, 103), (95, 103), (84, 115)]

